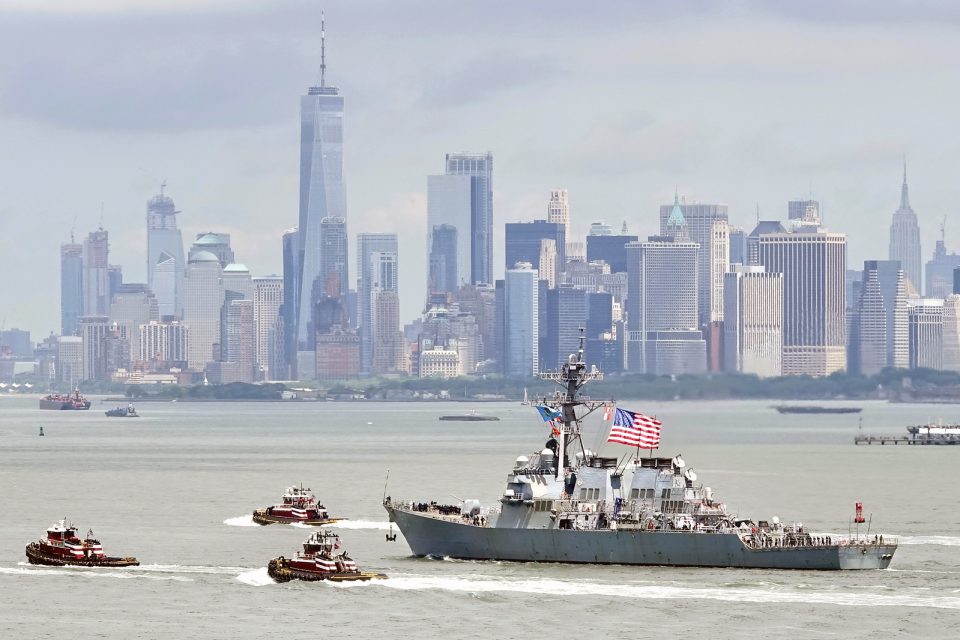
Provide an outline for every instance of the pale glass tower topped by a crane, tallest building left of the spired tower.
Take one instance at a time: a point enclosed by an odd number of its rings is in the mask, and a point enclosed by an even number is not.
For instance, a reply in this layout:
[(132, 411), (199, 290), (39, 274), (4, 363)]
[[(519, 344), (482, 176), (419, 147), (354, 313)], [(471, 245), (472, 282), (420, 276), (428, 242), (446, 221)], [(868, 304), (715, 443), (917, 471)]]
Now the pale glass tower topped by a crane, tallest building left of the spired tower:
[(177, 229), (173, 199), (160, 193), (147, 201), (147, 286), (157, 298), (162, 316), (183, 313), (183, 236)]

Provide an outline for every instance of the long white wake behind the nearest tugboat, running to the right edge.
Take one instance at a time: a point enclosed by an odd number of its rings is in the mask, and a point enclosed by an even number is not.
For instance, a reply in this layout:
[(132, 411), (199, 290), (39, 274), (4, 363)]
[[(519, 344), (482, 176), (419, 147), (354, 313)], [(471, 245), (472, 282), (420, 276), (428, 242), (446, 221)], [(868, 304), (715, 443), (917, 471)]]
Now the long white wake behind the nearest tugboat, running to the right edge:
[[(349, 584), (349, 583), (345, 583)], [(600, 596), (637, 600), (720, 600), (760, 604), (828, 604), (851, 607), (934, 607), (960, 610), (960, 597), (844, 591), (787, 591), (781, 588), (703, 588), (665, 585), (603, 584), (549, 579), (458, 578), (394, 575), (366, 584), (404, 591), (436, 589), (465, 593), (530, 593), (554, 596)], [(345, 586), (338, 585), (338, 586)]]

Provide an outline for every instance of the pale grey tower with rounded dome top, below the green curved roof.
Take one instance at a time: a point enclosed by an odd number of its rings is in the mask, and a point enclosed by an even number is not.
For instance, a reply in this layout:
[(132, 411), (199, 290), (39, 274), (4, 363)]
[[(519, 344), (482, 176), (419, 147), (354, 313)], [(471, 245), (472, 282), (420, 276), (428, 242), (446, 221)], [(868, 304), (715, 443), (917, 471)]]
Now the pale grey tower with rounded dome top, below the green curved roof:
[(188, 366), (201, 371), (216, 360), (223, 307), (223, 270), (209, 251), (192, 252), (184, 272), (183, 322), (190, 327)]

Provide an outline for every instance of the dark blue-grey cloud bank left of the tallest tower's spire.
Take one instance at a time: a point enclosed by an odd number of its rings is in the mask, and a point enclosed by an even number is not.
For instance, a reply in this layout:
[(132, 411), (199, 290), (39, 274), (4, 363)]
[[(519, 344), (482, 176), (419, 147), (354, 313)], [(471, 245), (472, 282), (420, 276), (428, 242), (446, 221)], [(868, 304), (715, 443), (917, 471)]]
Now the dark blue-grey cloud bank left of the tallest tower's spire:
[(33, 50), (0, 89), (6, 115), (93, 130), (182, 131), (269, 123), (288, 111), (273, 96), (296, 81), (291, 46), (260, 39), (178, 48), (136, 38), (70, 52)]

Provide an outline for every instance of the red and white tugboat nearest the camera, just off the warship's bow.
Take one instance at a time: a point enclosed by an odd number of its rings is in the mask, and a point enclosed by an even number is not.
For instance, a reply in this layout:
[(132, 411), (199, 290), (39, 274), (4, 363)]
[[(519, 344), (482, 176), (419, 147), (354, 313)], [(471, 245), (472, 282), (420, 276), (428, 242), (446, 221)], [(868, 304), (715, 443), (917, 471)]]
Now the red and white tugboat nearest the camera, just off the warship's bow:
[(267, 573), (277, 582), (290, 580), (330, 580), (353, 582), (383, 580), (382, 573), (362, 572), (346, 551), (340, 551), (340, 536), (326, 529), (316, 531), (303, 543), (303, 551), (295, 558), (274, 558)]

